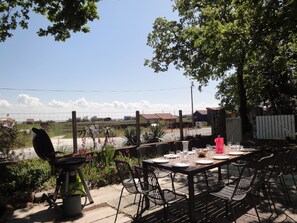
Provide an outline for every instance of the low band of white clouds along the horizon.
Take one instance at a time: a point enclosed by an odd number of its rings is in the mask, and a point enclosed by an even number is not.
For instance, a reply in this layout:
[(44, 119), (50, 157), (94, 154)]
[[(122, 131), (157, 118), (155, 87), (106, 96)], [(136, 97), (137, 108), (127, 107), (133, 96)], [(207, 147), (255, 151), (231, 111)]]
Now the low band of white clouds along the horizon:
[[(194, 105), (194, 110), (217, 106), (215, 104), (207, 104), (206, 102), (200, 102), (199, 105)], [(0, 116), (6, 115), (6, 113), (14, 113), (14, 116), (17, 116), (14, 118), (18, 121), (32, 117), (36, 120), (67, 120), (71, 117), (72, 111), (77, 112), (77, 117), (97, 116), (111, 118), (123, 118), (125, 115), (135, 115), (136, 111), (140, 113), (170, 112), (175, 115), (178, 115), (179, 110), (182, 110), (183, 114), (189, 114), (191, 112), (190, 104), (163, 104), (153, 103), (148, 100), (135, 102), (115, 100), (100, 103), (89, 101), (84, 97), (68, 101), (53, 99), (48, 103), (42, 103), (39, 98), (27, 94), (18, 95), (16, 104), (5, 99), (0, 99), (0, 108)]]

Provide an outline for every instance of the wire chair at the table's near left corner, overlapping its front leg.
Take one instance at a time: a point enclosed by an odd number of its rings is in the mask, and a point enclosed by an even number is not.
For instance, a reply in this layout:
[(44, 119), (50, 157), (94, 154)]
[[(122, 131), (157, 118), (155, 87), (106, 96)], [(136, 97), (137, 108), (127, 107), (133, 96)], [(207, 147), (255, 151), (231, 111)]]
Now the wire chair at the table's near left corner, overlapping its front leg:
[[(161, 189), (156, 174), (151, 169), (146, 169), (147, 182), (142, 182), (144, 170), (141, 167), (135, 166), (135, 173), (138, 176), (144, 197), (155, 205), (162, 205), (165, 220), (167, 220), (166, 207), (174, 202), (187, 199), (184, 194), (176, 193), (169, 189)], [(144, 200), (143, 200), (144, 201)], [(143, 206), (143, 205), (142, 205)]]

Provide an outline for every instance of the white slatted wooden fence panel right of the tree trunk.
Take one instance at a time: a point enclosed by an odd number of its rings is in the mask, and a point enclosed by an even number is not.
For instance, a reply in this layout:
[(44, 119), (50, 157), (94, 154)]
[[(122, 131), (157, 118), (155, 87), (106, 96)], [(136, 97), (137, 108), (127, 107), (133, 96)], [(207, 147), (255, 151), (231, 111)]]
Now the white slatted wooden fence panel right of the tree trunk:
[(294, 115), (257, 116), (257, 139), (296, 139)]

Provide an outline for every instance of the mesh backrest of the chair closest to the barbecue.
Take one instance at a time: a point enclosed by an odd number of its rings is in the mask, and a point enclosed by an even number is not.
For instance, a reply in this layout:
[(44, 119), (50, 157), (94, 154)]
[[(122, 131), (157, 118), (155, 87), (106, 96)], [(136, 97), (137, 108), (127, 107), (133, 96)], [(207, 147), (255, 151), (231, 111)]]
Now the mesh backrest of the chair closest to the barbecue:
[(137, 186), (139, 180), (135, 178), (130, 164), (123, 160), (115, 159), (114, 161), (123, 187), (131, 194), (139, 193)]

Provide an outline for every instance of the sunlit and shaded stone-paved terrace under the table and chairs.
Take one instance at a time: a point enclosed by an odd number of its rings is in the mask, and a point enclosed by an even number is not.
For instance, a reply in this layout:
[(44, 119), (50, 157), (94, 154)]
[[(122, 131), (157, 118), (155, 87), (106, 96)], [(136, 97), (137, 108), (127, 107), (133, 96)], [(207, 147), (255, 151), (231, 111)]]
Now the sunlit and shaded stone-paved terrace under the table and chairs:
[[(223, 169), (224, 173), (224, 169)], [(231, 175), (237, 174), (237, 169), (230, 166)], [(216, 179), (216, 173), (210, 173), (213, 176), (211, 179)], [(197, 181), (199, 179), (197, 178)], [(203, 182), (203, 180), (199, 180)], [(262, 222), (286, 222), (294, 223), (297, 222), (297, 189), (294, 187), (293, 180), (291, 176), (286, 176), (286, 183), (290, 188), (290, 195), (292, 199), (292, 204), (286, 205), (284, 196), (281, 193), (280, 187), (273, 188), (273, 197), (276, 201), (276, 207), (278, 210), (278, 215), (275, 213), (271, 215), (268, 204), (266, 200), (257, 199), (258, 205), (257, 210), (259, 211)], [(176, 179), (176, 189), (179, 192), (187, 193), (186, 180), (184, 176), (177, 175)], [(170, 187), (170, 180), (163, 179), (161, 181), (161, 187)], [(198, 184), (197, 184), (198, 185)], [(205, 193), (202, 192), (203, 184), (201, 187), (196, 187), (196, 199), (195, 199), (195, 209), (197, 214), (197, 222), (206, 222), (204, 215), (205, 208)], [(122, 185), (110, 185), (102, 187), (96, 190), (91, 190), (92, 197), (94, 199), (94, 204), (87, 204), (82, 214), (76, 217), (67, 218), (61, 214), (57, 209), (49, 209), (47, 203), (32, 204), (24, 209), (15, 210), (8, 220), (9, 223), (20, 223), (20, 222), (86, 222), (86, 223), (111, 223), (114, 222), (116, 208), (119, 201), (119, 195), (122, 189)], [(118, 223), (128, 223), (136, 222), (133, 221), (132, 216), (136, 213), (137, 205), (129, 205), (133, 202), (134, 195), (124, 192), (124, 197), (122, 199), (120, 213), (118, 216)], [(258, 222), (256, 213), (251, 207), (249, 202), (233, 203), (235, 207), (235, 212), (237, 215), (237, 222), (247, 223), (247, 222)], [(231, 214), (229, 217), (225, 216), (225, 205), (223, 202), (217, 199), (211, 199), (209, 204), (209, 218), (211, 222), (231, 222)], [(244, 211), (241, 211), (244, 210)], [(143, 221), (147, 223), (161, 223), (163, 220), (163, 210), (160, 207), (151, 207), (149, 211), (146, 211), (143, 215)], [(169, 219), (168, 222), (179, 223), (179, 222), (189, 222), (187, 216), (187, 203), (179, 202), (172, 205), (169, 208)]]

